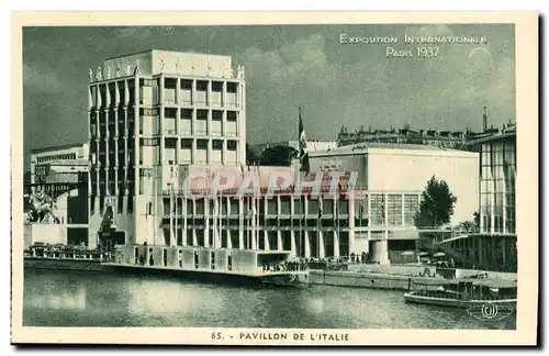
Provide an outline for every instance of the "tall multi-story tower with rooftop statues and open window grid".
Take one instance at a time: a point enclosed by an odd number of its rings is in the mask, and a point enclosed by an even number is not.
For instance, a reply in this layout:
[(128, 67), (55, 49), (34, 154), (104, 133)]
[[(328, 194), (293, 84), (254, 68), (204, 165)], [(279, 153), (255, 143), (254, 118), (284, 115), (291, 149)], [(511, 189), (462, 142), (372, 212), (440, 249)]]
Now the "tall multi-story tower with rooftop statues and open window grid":
[(235, 74), (228, 56), (154, 49), (110, 58), (90, 69), (88, 89), (90, 245), (105, 211), (122, 242), (161, 236), (153, 218), (173, 171), (245, 164), (244, 67)]

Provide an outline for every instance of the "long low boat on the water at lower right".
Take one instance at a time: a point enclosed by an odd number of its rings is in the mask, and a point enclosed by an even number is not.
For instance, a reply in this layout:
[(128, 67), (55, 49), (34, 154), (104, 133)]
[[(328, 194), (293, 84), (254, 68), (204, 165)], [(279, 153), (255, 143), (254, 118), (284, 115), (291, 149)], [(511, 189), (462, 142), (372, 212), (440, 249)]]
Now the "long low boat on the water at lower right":
[[(444, 305), (455, 308), (474, 308), (488, 303), (516, 307), (516, 281), (486, 278), (463, 278), (414, 282), (414, 287), (404, 293), (410, 303)], [(417, 286), (422, 286), (418, 288)], [(412, 290), (414, 289), (414, 290)]]

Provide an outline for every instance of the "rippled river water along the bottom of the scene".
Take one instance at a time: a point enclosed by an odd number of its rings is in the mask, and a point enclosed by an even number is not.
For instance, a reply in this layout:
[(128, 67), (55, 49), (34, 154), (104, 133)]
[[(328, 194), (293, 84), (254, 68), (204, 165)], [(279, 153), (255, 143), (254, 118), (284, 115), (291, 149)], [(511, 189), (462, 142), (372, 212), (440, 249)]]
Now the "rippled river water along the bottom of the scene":
[(25, 269), (25, 326), (515, 329), (404, 303), (402, 291), (220, 286), (176, 278)]

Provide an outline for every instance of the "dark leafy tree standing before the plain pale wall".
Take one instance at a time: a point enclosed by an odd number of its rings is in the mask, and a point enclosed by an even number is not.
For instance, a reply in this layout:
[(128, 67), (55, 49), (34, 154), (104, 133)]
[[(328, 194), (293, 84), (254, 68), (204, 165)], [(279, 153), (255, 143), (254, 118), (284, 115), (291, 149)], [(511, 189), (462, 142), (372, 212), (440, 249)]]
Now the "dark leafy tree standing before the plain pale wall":
[(415, 225), (440, 227), (450, 222), (457, 200), (458, 198), (451, 193), (448, 183), (445, 180), (437, 180), (433, 176), (422, 193)]

